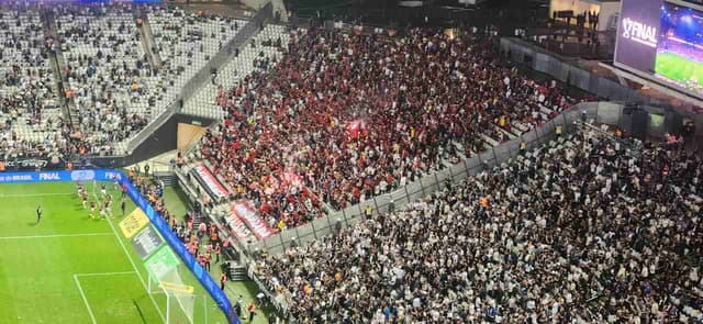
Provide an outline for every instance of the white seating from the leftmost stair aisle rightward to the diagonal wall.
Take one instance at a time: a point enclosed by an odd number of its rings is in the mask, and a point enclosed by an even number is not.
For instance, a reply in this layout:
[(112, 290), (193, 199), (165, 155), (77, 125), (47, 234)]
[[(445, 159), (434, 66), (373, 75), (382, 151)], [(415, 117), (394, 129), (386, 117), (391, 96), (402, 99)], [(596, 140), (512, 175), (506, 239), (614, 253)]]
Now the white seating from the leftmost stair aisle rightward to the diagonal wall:
[(129, 141), (171, 105), (186, 83), (246, 21), (145, 7), (159, 57), (147, 56), (131, 4), (54, 7), (67, 94), (93, 154), (124, 154)]

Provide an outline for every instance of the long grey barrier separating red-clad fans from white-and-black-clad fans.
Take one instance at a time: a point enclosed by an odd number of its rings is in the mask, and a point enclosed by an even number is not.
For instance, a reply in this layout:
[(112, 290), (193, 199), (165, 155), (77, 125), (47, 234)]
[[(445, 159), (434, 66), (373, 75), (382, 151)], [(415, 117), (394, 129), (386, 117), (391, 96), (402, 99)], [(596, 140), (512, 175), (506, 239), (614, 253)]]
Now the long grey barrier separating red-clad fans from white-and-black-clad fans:
[(520, 154), (520, 143), (524, 142), (527, 150), (539, 147), (554, 139), (557, 126), (561, 126), (563, 134), (576, 131), (576, 121), (592, 121), (596, 124), (610, 124), (621, 126), (623, 105), (611, 102), (584, 102), (561, 112), (554, 120), (535, 130), (522, 134), (520, 137), (504, 142), (503, 144), (482, 152), (476, 157), (428, 174), (421, 179), (395, 190), (373, 197), (359, 204), (341, 211), (330, 212), (308, 224), (281, 231), (264, 241), (248, 246), (248, 252), (267, 250), (269, 255), (281, 255), (291, 245), (305, 245), (312, 241), (331, 235), (343, 227), (354, 226), (364, 220), (367, 206), (371, 208), (372, 215), (386, 213), (391, 201), (394, 208), (402, 209), (405, 204), (425, 198), (442, 188), (444, 183), (458, 182), (469, 176), (477, 175), (486, 168), (499, 166)]

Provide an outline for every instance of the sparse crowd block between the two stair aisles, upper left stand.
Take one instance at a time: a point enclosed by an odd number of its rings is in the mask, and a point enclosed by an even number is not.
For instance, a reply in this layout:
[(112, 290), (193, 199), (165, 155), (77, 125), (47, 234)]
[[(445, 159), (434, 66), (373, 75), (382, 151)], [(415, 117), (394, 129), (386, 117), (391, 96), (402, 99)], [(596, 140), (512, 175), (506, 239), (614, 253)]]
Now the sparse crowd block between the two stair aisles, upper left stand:
[(90, 153), (114, 155), (152, 116), (155, 70), (131, 4), (53, 5), (70, 89)]

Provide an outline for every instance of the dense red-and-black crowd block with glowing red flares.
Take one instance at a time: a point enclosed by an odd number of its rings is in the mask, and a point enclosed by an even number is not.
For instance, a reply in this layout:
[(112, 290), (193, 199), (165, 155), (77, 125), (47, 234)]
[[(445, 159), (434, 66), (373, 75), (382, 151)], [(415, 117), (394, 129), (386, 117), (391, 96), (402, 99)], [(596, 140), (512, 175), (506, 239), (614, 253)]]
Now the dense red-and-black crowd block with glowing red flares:
[[(492, 38), (310, 29), (280, 62), (259, 59), (217, 103), (228, 115), (201, 157), (271, 227), (344, 209), (514, 138), (574, 99), (521, 76)], [(266, 45), (277, 46), (278, 40)]]

